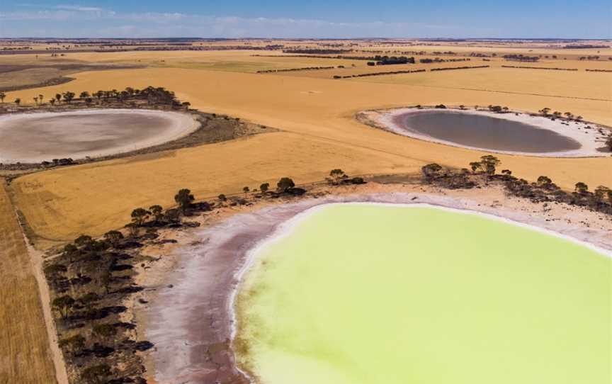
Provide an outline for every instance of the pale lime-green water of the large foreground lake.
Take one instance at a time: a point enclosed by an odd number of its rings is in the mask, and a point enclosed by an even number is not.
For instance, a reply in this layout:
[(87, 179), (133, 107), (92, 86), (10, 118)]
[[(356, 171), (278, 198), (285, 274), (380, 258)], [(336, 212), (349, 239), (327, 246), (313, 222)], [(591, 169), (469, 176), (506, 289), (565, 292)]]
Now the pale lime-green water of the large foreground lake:
[(247, 273), (239, 360), (265, 384), (610, 384), (611, 267), (479, 215), (329, 205)]

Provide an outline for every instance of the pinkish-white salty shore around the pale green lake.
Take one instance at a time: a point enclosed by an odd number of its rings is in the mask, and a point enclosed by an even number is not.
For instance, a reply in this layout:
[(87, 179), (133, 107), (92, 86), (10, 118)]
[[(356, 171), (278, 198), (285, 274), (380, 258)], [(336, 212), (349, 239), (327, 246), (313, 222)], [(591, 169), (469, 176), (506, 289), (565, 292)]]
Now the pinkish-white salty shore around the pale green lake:
[[(251, 207), (228, 209), (204, 218), (202, 224), (208, 226), (203, 229), (179, 232), (178, 244), (164, 254), (164, 263), (152, 264), (153, 271), (143, 273), (145, 286), (159, 287), (143, 293), (150, 305), (135, 305), (139, 324), (156, 345), (145, 354), (147, 371), (154, 374), (152, 382), (208, 383), (240, 376), (238, 383), (254, 382), (236, 366), (230, 344), (236, 332), (234, 301), (242, 276), (260, 247), (282, 237), (297, 222), (328, 204), (430, 205), (467, 211), (543, 230), (612, 256), (612, 223), (602, 219), (604, 215), (560, 205), (544, 212), (541, 205), (504, 198), (501, 190), (487, 189), (483, 194), (375, 184), (330, 188), (327, 193), (334, 194), (282, 204), (261, 201)], [(212, 354), (211, 346), (217, 350)]]

